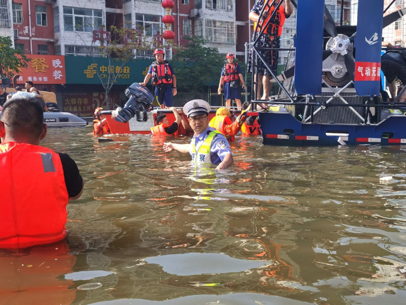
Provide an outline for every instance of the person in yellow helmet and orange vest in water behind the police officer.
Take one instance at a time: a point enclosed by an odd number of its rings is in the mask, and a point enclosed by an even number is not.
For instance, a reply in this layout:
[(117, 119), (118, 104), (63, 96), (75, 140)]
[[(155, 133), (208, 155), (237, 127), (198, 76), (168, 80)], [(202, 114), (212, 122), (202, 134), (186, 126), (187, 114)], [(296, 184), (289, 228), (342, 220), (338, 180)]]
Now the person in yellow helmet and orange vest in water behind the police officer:
[(234, 142), (234, 136), (241, 130), (245, 116), (246, 114), (242, 112), (235, 121), (231, 121), (230, 110), (221, 107), (217, 109), (216, 116), (211, 119), (209, 126), (221, 132), (229, 142)]

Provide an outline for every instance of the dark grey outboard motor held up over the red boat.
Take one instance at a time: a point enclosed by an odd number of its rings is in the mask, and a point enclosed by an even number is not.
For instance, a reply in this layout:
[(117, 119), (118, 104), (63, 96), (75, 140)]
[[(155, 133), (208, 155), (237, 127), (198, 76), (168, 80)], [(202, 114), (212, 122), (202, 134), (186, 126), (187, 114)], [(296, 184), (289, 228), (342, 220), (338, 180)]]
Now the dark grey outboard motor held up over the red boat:
[(154, 95), (146, 87), (133, 83), (125, 89), (125, 95), (128, 99), (124, 108), (117, 108), (113, 111), (112, 117), (122, 123), (127, 123), (132, 117), (137, 116), (138, 121), (146, 121), (148, 118), (147, 112), (154, 107), (152, 103), (155, 100)]

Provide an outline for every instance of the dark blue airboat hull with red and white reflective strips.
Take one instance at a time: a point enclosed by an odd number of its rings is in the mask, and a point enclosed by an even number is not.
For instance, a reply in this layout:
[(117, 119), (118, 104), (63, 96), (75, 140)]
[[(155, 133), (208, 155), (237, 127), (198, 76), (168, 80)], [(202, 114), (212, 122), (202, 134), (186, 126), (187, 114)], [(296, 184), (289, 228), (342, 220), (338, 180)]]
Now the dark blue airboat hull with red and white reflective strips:
[(266, 145), (406, 144), (404, 115), (370, 125), (302, 123), (288, 112), (259, 112), (259, 118)]

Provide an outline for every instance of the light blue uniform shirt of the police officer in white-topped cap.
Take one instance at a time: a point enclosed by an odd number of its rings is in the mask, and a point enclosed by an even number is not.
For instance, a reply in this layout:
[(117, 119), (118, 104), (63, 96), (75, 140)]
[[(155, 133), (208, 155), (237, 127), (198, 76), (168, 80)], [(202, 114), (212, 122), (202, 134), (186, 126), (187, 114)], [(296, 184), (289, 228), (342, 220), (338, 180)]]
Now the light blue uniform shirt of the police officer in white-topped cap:
[[(204, 132), (198, 136), (194, 135), (196, 151), (199, 150), (201, 144), (205, 141), (210, 131), (216, 130), (215, 128), (208, 127)], [(189, 154), (192, 155), (193, 145), (189, 144)], [(214, 137), (212, 147), (210, 147), (210, 158), (213, 164), (220, 164), (224, 160), (225, 156), (231, 154), (230, 145), (227, 139), (222, 134), (218, 134)]]

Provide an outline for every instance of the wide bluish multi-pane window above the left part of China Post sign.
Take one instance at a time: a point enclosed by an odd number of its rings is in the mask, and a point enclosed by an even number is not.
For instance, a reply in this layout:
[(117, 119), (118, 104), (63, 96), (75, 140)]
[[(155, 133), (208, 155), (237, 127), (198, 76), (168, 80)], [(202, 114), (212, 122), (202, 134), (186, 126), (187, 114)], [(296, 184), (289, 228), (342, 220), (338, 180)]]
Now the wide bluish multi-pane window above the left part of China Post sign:
[(103, 11), (63, 7), (63, 23), (67, 32), (92, 32), (103, 25)]

